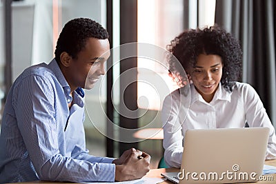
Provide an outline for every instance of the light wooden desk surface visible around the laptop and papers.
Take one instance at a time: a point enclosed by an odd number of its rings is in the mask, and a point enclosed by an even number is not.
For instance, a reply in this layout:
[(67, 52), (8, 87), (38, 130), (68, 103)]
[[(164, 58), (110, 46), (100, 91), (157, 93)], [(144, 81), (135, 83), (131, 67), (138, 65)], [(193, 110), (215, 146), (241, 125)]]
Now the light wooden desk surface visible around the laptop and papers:
[[(266, 165), (273, 165), (273, 166), (276, 167), (276, 160), (266, 161), (265, 164)], [(163, 173), (163, 172), (179, 172), (179, 169), (177, 169), (177, 168), (168, 168), (168, 169), (150, 170), (150, 172), (148, 172), (148, 174), (146, 174), (146, 177), (150, 177), (150, 178), (162, 178), (162, 176), (160, 174)], [(276, 183), (276, 174), (270, 174), (270, 175), (266, 175), (266, 176), (273, 176), (273, 181), (259, 181), (257, 183)], [(49, 184), (49, 183), (56, 183), (57, 184), (57, 183), (59, 183), (59, 184), (61, 184), (63, 182), (48, 182), (48, 181), (26, 182), (26, 184), (28, 184), (28, 183), (43, 183), (43, 184)], [(172, 182), (170, 182), (170, 181), (164, 181), (162, 183), (163, 184), (164, 183), (172, 184)], [(72, 183), (70, 183), (70, 184), (72, 184)]]

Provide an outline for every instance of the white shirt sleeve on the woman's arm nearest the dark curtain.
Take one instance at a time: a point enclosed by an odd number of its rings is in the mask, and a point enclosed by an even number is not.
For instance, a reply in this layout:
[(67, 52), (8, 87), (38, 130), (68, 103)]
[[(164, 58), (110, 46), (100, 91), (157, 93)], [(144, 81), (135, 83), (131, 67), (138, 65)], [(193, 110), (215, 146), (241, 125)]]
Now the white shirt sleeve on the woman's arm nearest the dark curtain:
[(259, 95), (254, 88), (246, 84), (246, 88), (242, 89), (244, 95), (246, 121), (249, 127), (269, 127), (268, 147), (266, 150), (266, 159), (276, 159), (276, 136), (264, 105), (259, 99)]

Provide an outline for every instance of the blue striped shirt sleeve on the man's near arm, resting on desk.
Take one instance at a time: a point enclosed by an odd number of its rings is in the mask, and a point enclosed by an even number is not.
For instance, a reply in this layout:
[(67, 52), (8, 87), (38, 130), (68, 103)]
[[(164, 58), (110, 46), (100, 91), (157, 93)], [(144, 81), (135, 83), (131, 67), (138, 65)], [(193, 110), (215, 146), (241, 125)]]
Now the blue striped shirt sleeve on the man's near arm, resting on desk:
[(99, 159), (84, 159), (86, 154), (75, 158), (60, 154), (54, 88), (42, 76), (26, 76), (13, 99), (19, 130), (39, 178), (76, 183), (115, 181), (115, 164), (111, 160), (98, 163)]

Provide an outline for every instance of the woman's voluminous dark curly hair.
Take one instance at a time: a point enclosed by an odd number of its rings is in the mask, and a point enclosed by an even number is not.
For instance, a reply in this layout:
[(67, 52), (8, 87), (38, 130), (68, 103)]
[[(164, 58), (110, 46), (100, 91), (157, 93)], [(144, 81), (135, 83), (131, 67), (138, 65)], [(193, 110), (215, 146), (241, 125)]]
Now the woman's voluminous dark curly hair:
[(199, 54), (216, 54), (221, 57), (224, 65), (221, 84), (226, 90), (232, 91), (235, 81), (241, 79), (242, 49), (239, 41), (218, 25), (203, 30), (186, 30), (167, 45), (167, 50), (172, 54), (168, 57), (169, 73), (172, 77), (175, 76), (180, 86), (185, 85), (188, 79), (184, 72), (176, 67), (175, 62), (178, 60), (188, 72), (188, 68), (196, 65)]

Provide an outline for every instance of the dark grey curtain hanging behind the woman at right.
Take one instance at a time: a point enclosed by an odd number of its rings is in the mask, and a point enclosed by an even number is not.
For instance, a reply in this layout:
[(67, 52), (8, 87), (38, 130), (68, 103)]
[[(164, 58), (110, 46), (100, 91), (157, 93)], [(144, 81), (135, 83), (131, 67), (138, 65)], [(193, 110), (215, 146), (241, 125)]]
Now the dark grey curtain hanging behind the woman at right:
[(276, 127), (275, 1), (217, 0), (215, 23), (241, 42), (241, 81), (255, 88)]

